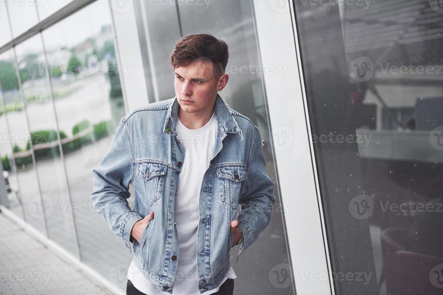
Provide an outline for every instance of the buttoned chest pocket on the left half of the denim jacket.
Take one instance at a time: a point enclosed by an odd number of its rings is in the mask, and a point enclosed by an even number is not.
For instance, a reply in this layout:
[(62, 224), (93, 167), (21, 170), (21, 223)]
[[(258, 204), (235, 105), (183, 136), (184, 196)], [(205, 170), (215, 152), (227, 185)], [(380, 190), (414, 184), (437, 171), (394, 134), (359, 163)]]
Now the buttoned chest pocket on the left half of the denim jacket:
[(166, 171), (167, 165), (159, 163), (144, 162), (137, 166), (136, 174), (144, 182), (146, 201), (149, 207), (152, 207), (162, 195)]

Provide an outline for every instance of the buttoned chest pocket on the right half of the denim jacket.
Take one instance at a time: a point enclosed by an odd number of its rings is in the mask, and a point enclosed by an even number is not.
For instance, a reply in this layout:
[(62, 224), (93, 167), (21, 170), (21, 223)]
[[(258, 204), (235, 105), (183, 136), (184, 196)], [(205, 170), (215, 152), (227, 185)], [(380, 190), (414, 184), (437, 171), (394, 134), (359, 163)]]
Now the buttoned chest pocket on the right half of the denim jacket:
[(245, 192), (247, 171), (243, 166), (232, 165), (217, 168), (219, 180), (220, 200), (237, 208), (240, 195)]

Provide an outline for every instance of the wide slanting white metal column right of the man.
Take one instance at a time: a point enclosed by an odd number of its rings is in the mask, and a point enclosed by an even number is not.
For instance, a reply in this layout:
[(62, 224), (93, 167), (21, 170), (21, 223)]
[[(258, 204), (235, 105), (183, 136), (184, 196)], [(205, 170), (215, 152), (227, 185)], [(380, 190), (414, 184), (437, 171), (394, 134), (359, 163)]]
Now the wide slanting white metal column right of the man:
[[(271, 69), (263, 76), (295, 290), (334, 295), (294, 7), (290, 0), (253, 4), (262, 66)], [(278, 73), (284, 67), (287, 77)]]

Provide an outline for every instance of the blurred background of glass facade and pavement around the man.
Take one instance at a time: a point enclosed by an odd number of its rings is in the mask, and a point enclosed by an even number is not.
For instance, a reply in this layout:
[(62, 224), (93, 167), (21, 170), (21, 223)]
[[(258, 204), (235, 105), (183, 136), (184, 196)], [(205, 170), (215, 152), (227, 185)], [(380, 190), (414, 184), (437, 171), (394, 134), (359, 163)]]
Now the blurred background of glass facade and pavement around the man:
[(125, 293), (92, 169), (206, 32), (276, 184), (234, 293), (442, 294), (440, 0), (1, 0), (0, 294)]

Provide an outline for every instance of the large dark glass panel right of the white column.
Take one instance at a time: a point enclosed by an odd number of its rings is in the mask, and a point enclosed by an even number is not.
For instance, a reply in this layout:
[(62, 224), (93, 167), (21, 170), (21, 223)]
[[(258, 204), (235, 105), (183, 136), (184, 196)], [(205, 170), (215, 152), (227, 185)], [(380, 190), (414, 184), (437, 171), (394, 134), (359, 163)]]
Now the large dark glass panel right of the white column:
[(441, 1), (333, 4), (295, 1), (336, 294), (441, 294)]

